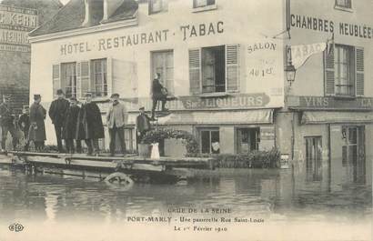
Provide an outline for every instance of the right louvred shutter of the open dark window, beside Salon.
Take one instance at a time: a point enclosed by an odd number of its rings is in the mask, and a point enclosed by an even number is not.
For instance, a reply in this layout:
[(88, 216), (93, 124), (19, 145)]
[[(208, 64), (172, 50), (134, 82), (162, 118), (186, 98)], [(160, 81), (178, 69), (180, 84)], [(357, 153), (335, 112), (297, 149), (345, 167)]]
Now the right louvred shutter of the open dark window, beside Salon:
[(239, 81), (239, 45), (226, 45), (227, 92), (238, 91)]

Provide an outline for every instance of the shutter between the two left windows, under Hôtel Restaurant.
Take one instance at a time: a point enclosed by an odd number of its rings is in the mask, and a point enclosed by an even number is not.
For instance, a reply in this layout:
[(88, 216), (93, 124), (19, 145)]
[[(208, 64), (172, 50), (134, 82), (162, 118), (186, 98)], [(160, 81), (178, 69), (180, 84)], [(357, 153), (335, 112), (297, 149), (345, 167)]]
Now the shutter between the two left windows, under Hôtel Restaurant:
[(76, 64), (76, 97), (82, 98), (90, 91), (90, 67), (89, 61), (82, 61)]

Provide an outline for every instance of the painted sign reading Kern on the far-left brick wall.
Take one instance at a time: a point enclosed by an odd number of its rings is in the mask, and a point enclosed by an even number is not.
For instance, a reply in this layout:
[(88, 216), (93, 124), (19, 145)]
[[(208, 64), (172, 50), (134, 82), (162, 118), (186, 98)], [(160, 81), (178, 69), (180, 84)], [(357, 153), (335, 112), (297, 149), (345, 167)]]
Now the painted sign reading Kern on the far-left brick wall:
[(34, 9), (0, 5), (0, 51), (30, 52), (28, 32), (37, 22)]

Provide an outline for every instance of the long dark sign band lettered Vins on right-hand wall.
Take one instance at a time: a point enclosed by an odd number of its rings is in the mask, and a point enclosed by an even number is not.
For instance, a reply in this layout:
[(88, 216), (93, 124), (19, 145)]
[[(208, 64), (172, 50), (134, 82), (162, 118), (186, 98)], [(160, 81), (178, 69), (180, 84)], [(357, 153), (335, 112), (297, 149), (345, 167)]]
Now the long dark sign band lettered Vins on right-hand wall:
[(360, 110), (373, 111), (373, 98), (359, 97), (341, 99), (328, 96), (288, 96), (287, 105), (290, 109), (299, 110)]

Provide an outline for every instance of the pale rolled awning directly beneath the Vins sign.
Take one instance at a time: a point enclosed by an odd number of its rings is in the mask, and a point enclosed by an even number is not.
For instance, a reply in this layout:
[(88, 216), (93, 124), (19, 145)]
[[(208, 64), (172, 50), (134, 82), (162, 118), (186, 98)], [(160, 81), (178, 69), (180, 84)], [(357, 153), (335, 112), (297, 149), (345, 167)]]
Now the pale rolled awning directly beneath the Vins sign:
[(305, 111), (302, 124), (373, 123), (373, 112)]

